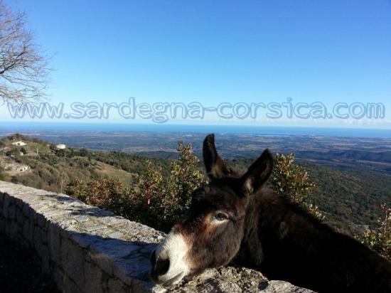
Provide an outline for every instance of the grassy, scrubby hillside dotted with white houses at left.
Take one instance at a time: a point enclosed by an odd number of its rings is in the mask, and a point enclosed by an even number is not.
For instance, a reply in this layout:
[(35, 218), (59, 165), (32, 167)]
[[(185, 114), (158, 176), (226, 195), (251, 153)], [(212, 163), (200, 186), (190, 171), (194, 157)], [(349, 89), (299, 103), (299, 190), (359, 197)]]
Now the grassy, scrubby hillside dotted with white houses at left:
[[(16, 141), (23, 141), (27, 145), (13, 146), (12, 142)], [(21, 154), (22, 147), (26, 149), (26, 154)], [(168, 164), (163, 159), (147, 159), (117, 151), (56, 149), (48, 142), (21, 135), (0, 140), (1, 180), (58, 193), (63, 192), (72, 179), (90, 181), (97, 177), (117, 178), (125, 186), (132, 186), (135, 174), (144, 170), (147, 160), (154, 161), (156, 166)], [(20, 172), (16, 168), (18, 166), (28, 166), (29, 169)]]

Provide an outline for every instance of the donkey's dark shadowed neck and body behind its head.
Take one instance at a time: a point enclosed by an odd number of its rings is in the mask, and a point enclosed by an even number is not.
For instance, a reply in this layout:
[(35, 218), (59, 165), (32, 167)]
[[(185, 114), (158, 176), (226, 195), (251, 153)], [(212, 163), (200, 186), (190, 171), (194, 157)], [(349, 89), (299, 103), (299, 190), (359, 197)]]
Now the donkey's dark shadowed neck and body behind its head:
[(268, 189), (250, 199), (237, 261), (318, 292), (391, 289), (390, 262)]

